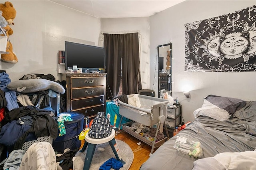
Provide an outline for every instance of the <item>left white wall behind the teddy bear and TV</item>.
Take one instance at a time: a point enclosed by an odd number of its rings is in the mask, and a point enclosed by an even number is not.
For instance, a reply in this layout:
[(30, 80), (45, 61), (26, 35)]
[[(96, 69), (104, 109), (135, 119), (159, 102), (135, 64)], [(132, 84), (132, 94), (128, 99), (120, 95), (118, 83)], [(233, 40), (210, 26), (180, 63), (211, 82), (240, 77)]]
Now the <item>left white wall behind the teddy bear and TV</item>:
[[(29, 73), (57, 73), (57, 53), (64, 41), (98, 46), (100, 19), (50, 1), (10, 0), (17, 11), (10, 36), (18, 63), (1, 62), (12, 81)], [(3, 2), (1, 2), (3, 3)]]

